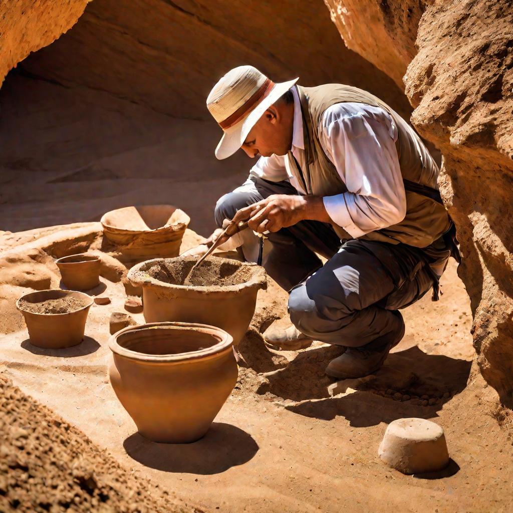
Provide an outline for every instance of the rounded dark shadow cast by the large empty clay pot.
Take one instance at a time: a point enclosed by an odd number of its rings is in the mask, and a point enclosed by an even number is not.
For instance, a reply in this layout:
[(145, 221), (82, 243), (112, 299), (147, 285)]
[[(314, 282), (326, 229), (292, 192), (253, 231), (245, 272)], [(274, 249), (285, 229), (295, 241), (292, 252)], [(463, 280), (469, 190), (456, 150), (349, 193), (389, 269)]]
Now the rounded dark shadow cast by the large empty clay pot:
[(220, 422), (214, 422), (202, 439), (190, 444), (155, 443), (133, 433), (123, 447), (131, 458), (147, 467), (203, 475), (242, 465), (259, 449), (246, 431)]

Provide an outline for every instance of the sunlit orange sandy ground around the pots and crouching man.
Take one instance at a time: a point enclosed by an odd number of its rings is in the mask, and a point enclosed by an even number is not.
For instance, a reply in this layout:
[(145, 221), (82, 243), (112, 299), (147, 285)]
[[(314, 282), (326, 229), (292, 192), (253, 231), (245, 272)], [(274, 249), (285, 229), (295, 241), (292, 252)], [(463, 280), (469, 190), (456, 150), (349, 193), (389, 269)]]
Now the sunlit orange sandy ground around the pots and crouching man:
[[(165, 445), (136, 432), (106, 377), (108, 319), (123, 311), (126, 298), (121, 282), (104, 276), (91, 292), (112, 302), (91, 307), (86, 338), (71, 349), (32, 346), (13, 309), (27, 286), (58, 286), (51, 255), (70, 247), (94, 249), (99, 235), (91, 223), (0, 237), (0, 308), (4, 331), (10, 331), (2, 339), (1, 364), (23, 391), (137, 475), (205, 511), (463, 513), (513, 507), (511, 438), (501, 427), (505, 417), (494, 390), (471, 372), (469, 303), (452, 263), (441, 301), (426, 297), (404, 311), (406, 336), (383, 369), (338, 383), (324, 374), (337, 348), (314, 343), (280, 353), (264, 346), (260, 332), (285, 314), (286, 294), (270, 283), (240, 346), (247, 366), (210, 431), (193, 444)], [(182, 249), (194, 240), (187, 232)], [(142, 314), (133, 317), (143, 322)], [(412, 396), (426, 396), (431, 404), (419, 405)], [(443, 426), (452, 458), (446, 471), (403, 476), (379, 460), (387, 423), (401, 417)]]

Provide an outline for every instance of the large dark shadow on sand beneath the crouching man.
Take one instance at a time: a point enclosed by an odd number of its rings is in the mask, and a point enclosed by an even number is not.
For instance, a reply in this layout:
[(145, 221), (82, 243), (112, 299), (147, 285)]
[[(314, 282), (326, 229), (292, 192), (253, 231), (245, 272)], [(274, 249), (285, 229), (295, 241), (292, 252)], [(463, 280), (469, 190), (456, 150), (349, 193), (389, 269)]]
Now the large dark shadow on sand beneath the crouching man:
[[(322, 420), (341, 416), (351, 426), (368, 427), (405, 417), (436, 417), (442, 405), (465, 388), (471, 365), (413, 346), (391, 353), (372, 376), (336, 383), (324, 373), (335, 351), (320, 347), (300, 353), (287, 367), (266, 374), (258, 392), (297, 401), (286, 408), (299, 415)], [(342, 396), (348, 388), (352, 393)], [(392, 400), (397, 393), (399, 400)], [(422, 406), (417, 399), (403, 400), (404, 396), (423, 397), (434, 404)]]

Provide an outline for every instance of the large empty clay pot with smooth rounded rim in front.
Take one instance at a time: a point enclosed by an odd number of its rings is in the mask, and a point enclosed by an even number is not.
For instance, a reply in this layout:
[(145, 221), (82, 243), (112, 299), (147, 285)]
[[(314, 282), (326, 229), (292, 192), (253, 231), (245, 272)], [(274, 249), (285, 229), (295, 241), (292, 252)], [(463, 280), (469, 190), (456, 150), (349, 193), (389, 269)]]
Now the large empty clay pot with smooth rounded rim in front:
[(235, 386), (232, 338), (204, 324), (151, 323), (109, 339), (109, 376), (142, 436), (194, 442), (208, 431)]

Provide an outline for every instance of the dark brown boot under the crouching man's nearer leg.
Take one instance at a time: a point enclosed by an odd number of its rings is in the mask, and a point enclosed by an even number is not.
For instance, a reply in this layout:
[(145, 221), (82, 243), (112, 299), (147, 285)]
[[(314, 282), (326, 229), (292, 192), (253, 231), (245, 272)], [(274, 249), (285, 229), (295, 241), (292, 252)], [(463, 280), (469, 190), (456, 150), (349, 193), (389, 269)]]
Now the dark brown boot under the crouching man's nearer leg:
[[(394, 312), (396, 313), (396, 312)], [(332, 378), (354, 379), (363, 378), (381, 368), (392, 347), (397, 346), (404, 337), (404, 321), (397, 312), (398, 327), (391, 333), (373, 340), (362, 347), (348, 347), (346, 352), (331, 360), (326, 367), (326, 374)], [(383, 342), (383, 344), (380, 344)], [(369, 348), (372, 347), (372, 349)]]

